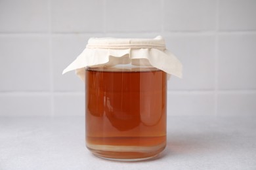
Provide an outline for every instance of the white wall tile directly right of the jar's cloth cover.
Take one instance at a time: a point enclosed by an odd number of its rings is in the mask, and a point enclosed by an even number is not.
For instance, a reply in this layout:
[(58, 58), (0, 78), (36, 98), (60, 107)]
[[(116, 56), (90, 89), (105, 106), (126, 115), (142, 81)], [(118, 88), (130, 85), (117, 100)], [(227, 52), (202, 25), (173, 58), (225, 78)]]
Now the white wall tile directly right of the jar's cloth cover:
[(169, 90), (213, 90), (215, 87), (215, 37), (166, 36), (167, 48), (181, 59), (183, 78), (172, 76)]

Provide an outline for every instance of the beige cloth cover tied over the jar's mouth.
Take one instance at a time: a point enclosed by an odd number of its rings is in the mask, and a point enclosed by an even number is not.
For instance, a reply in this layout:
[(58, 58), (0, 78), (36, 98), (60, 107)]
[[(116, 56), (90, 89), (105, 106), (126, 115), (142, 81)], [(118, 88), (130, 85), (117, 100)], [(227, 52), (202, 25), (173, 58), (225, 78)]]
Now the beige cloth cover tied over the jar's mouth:
[(153, 66), (170, 75), (182, 77), (181, 62), (165, 49), (161, 36), (155, 39), (91, 38), (85, 50), (64, 69), (63, 74), (76, 70), (84, 80), (85, 67), (112, 67), (120, 62)]

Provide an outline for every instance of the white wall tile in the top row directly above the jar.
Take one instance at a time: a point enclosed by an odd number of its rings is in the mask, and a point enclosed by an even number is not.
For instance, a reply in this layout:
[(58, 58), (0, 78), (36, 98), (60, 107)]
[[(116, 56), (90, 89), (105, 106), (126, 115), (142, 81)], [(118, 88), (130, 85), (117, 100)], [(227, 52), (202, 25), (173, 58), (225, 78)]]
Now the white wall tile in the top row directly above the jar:
[(160, 1), (106, 1), (106, 31), (161, 31)]

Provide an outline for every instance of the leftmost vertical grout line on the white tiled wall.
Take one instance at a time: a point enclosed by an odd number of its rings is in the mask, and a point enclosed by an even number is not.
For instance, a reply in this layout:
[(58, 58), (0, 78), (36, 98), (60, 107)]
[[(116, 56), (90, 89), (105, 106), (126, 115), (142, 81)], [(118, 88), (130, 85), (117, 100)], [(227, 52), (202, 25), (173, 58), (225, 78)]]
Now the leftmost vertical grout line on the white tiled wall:
[(50, 63), (50, 81), (51, 81), (51, 116), (55, 116), (54, 112), (54, 84), (53, 84), (53, 37), (52, 37), (52, 16), (51, 16), (51, 0), (48, 0), (48, 36), (49, 36), (49, 63)]

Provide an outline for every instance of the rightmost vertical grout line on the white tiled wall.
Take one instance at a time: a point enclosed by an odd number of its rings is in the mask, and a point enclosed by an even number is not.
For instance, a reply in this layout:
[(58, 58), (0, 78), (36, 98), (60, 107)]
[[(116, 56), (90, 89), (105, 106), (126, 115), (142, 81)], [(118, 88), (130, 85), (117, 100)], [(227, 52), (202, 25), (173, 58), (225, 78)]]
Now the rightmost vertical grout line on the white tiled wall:
[(214, 113), (218, 116), (218, 90), (219, 90), (219, 0), (216, 1), (216, 28), (215, 28), (215, 92), (214, 92)]

